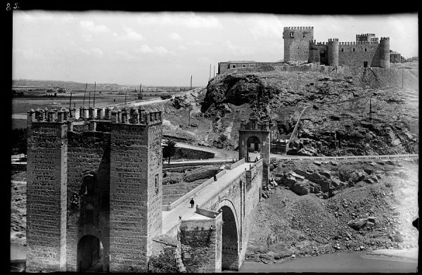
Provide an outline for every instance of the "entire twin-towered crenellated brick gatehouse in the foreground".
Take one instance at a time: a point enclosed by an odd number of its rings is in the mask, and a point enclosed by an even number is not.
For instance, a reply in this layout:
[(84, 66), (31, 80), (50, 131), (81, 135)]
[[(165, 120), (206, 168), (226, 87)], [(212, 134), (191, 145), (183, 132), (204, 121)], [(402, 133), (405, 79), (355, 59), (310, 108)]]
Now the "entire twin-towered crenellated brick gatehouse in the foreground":
[(162, 229), (162, 113), (30, 110), (27, 271), (146, 271)]

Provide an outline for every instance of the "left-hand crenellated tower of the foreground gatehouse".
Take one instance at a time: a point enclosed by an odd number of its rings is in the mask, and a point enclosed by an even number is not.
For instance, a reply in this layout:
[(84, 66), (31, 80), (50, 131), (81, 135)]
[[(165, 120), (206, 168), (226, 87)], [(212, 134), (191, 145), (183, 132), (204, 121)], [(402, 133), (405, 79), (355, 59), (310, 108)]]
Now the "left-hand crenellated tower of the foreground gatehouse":
[(28, 112), (27, 272), (65, 271), (68, 122)]

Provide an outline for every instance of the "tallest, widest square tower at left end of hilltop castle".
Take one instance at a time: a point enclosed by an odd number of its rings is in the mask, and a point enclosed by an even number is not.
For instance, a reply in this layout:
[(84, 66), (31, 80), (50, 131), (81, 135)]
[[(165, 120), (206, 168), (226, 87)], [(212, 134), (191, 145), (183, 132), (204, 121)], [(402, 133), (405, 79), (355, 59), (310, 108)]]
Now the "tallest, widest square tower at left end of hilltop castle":
[(284, 27), (284, 61), (307, 61), (314, 27)]

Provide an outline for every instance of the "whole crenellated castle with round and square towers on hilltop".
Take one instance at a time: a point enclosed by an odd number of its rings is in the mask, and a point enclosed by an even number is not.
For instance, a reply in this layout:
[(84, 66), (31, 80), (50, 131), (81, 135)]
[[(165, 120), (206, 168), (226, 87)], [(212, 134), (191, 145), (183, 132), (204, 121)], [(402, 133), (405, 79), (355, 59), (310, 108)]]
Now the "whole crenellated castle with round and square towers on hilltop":
[(324, 65), (390, 68), (390, 38), (357, 34), (356, 41), (314, 40), (314, 27), (284, 27), (284, 62), (307, 61)]

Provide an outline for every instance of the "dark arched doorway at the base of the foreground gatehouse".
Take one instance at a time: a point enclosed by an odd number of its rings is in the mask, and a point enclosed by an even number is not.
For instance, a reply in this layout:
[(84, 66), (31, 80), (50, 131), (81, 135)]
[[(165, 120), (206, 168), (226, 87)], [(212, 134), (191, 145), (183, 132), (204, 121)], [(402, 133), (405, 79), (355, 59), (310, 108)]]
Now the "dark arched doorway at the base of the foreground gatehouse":
[(77, 271), (103, 271), (101, 241), (92, 235), (83, 236), (77, 243)]

